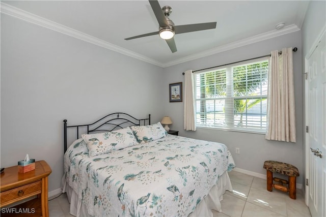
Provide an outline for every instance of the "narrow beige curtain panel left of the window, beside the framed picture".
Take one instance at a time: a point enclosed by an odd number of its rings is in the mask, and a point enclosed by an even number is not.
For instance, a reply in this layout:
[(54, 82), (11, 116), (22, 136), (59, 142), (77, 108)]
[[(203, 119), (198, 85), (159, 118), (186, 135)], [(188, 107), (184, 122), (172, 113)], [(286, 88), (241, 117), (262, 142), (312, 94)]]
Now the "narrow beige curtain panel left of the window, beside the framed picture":
[(196, 131), (194, 75), (192, 70), (184, 73), (184, 130)]

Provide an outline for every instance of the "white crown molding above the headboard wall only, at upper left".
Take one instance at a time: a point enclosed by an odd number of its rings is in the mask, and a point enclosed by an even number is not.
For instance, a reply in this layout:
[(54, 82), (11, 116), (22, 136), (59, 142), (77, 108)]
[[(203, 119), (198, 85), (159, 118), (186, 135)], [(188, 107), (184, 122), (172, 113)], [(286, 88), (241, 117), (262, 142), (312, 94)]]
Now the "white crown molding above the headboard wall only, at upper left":
[(156, 61), (154, 59), (148, 58), (146, 56), (140, 55), (139, 53), (135, 53), (133, 51), (127, 50), (125, 48), (119, 47), (117, 45), (108, 43), (104, 40), (98, 39), (96, 37), (90, 36), (88, 34), (79, 32), (76, 29), (69, 28), (65, 25), (61, 25), (59, 23), (53, 22), (51, 20), (45, 19), (43, 17), (37, 16), (35, 14), (32, 14), (30, 12), (23, 11), (21, 9), (18, 9), (16, 7), (10, 6), (8, 4), (5, 4), (1, 2), (1, 13), (16, 17), (18, 19), (22, 19), (24, 21), (54, 30), (56, 32), (98, 45), (100, 47), (110, 49), (113, 51), (116, 51), (118, 53), (122, 53), (124, 55), (145, 61), (147, 63), (159, 66), (159, 67), (164, 67), (163, 64), (161, 64), (159, 61)]

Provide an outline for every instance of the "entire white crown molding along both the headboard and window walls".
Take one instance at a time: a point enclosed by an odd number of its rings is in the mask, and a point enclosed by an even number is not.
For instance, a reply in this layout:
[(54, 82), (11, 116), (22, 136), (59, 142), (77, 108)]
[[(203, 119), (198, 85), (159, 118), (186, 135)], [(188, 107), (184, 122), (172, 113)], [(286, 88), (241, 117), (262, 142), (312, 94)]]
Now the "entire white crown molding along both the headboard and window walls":
[[(100, 46), (100, 47), (103, 47), (103, 48), (106, 48), (106, 49), (109, 49), (109, 50), (112, 50), (112, 51), (115, 51), (115, 52), (118, 52), (118, 53), (121, 53), (121, 54), (124, 54), (124, 55), (127, 55), (127, 56), (130, 56), (130, 57), (133, 57), (135, 59), (145, 61), (146, 63), (152, 64), (152, 65), (155, 65), (155, 66), (158, 66), (158, 67), (161, 67), (161, 68), (166, 68), (166, 67), (174, 66), (174, 65), (177, 65), (177, 64), (185, 63), (186, 61), (198, 59), (198, 58), (201, 58), (201, 57), (209, 56), (209, 55), (212, 55), (212, 54), (220, 53), (220, 52), (223, 52), (223, 51), (231, 50), (231, 49), (234, 49), (234, 48), (242, 47), (242, 46), (245, 46), (245, 45), (253, 44), (253, 43), (256, 43), (256, 42), (259, 42), (259, 41), (271, 39), (271, 38), (274, 38), (274, 37), (282, 36), (282, 35), (293, 33), (293, 32), (296, 32), (296, 31), (300, 30), (300, 28), (298, 28), (295, 24), (292, 24), (292, 25), (285, 26), (282, 29), (271, 30), (269, 32), (259, 34), (259, 35), (253, 36), (253, 37), (249, 37), (247, 39), (239, 40), (239, 41), (232, 42), (232, 43), (222, 45), (222, 46), (219, 46), (219, 47), (215, 47), (215, 48), (212, 48), (212, 49), (200, 52), (200, 53), (185, 56), (183, 58), (179, 58), (179, 59), (176, 59), (176, 60), (173, 60), (173, 61), (169, 61), (167, 63), (162, 63), (160, 61), (157, 61), (155, 59), (152, 59), (152, 58), (149, 58), (147, 56), (141, 55), (139, 53), (130, 51), (128, 49), (125, 49), (125, 48), (119, 47), (117, 45), (108, 43), (108, 42), (106, 42), (104, 40), (98, 39), (98, 38), (90, 36), (88, 34), (79, 32), (76, 29), (73, 29), (73, 28), (67, 27), (65, 25), (53, 22), (51, 20), (48, 20), (48, 19), (45, 19), (43, 17), (37, 16), (37, 15), (32, 14), (30, 12), (23, 11), (21, 9), (10, 6), (10, 5), (5, 4), (3, 2), (1, 2), (0, 6), (1, 6), (1, 8), (0, 8), (1, 13), (16, 17), (18, 19), (22, 19), (24, 21), (27, 21), (27, 22), (30, 22), (30, 23), (33, 23), (33, 24), (36, 24), (36, 25), (51, 29), (51, 30), (54, 30), (56, 32), (59, 32), (59, 33), (62, 33), (62, 34), (65, 34), (65, 35), (68, 35), (68, 36), (71, 36), (71, 37), (86, 41), (86, 42), (89, 42), (89, 43), (92, 43), (94, 45), (97, 45), (97, 46)], [(304, 8), (307, 9), (307, 7), (308, 7), (308, 5), (303, 5), (301, 7), (301, 9), (304, 9)], [(303, 18), (300, 18), (300, 19), (303, 20), (304, 16), (305, 15), (303, 15)], [(302, 22), (303, 21), (301, 21), (301, 24), (302, 24)]]

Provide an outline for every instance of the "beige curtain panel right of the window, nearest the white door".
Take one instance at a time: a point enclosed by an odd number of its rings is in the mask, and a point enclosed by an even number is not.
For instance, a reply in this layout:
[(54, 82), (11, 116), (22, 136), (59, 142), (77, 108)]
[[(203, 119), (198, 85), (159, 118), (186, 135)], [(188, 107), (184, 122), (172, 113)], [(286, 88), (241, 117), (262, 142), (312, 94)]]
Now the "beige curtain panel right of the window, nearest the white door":
[(271, 52), (268, 73), (265, 139), (295, 142), (292, 48)]

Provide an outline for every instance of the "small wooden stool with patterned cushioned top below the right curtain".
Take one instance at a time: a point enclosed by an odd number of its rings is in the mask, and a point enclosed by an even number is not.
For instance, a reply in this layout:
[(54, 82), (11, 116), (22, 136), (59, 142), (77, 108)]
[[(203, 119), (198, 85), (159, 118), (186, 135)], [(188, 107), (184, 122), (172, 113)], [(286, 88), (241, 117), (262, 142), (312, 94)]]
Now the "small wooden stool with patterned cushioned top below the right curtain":
[[(289, 192), (290, 198), (296, 199), (296, 176), (300, 175), (296, 167), (277, 161), (265, 161), (264, 169), (267, 172), (267, 191), (273, 191), (274, 187), (283, 192)], [(289, 176), (289, 181), (281, 178), (273, 178), (274, 172)], [(274, 184), (273, 181), (279, 182), (279, 184)]]

